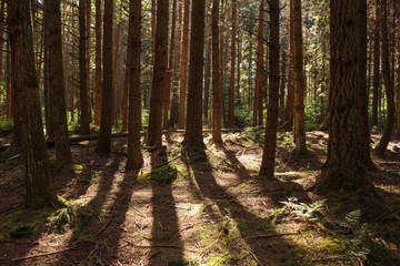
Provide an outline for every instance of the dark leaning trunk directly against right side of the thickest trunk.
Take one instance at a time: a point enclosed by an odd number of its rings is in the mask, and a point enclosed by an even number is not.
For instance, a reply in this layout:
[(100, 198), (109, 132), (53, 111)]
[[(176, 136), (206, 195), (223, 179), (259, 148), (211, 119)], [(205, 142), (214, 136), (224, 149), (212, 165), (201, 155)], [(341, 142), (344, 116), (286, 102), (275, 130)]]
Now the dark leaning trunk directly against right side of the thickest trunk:
[(370, 153), (370, 133), (368, 126), (368, 88), (367, 88), (367, 1), (357, 0), (357, 33), (359, 41), (359, 63), (358, 63), (358, 103), (360, 105), (360, 142), (361, 157), (367, 168), (374, 168)]

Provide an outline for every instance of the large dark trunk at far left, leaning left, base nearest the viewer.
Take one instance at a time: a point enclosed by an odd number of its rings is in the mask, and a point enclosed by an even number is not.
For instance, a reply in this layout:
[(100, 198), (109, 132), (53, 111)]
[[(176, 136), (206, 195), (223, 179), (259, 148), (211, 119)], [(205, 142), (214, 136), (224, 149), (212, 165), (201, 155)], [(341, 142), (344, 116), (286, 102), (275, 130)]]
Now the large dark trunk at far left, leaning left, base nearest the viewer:
[(27, 206), (54, 203), (48, 154), (40, 113), (39, 84), (33, 54), (30, 0), (9, 1), (8, 23), (11, 45), (12, 85), (18, 101), (22, 156), (26, 165)]

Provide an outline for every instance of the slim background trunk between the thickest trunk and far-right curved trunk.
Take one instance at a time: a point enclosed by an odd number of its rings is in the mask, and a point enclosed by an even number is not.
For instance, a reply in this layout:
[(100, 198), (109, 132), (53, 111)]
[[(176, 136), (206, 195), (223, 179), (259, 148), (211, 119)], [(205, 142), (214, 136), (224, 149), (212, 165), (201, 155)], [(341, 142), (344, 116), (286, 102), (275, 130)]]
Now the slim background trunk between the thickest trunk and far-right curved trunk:
[(376, 18), (373, 23), (373, 80), (372, 80), (372, 124), (378, 125), (378, 103), (379, 103), (379, 81), (380, 81), (380, 2), (377, 0), (376, 4)]

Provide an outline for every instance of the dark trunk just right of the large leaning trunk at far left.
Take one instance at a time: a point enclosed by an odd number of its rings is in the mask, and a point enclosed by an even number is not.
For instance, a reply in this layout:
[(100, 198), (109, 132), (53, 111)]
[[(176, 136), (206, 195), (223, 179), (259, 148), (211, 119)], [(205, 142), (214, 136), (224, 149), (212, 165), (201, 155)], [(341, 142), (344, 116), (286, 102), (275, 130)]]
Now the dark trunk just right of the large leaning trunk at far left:
[(63, 86), (60, 0), (44, 0), (44, 16), (49, 30), (49, 84), (56, 139), (56, 160), (60, 164), (68, 164), (72, 162), (72, 156)]

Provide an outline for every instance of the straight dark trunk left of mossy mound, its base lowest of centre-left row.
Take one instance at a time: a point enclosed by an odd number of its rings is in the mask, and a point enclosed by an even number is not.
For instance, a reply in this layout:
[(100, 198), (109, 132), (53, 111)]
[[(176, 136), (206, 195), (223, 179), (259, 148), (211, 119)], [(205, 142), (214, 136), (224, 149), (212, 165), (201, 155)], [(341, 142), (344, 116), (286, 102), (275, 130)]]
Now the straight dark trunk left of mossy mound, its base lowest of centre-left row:
[(141, 101), (140, 101), (140, 32), (141, 0), (129, 2), (128, 49), (130, 68), (129, 133), (127, 168), (140, 168), (143, 157), (140, 150)]

